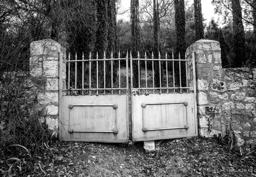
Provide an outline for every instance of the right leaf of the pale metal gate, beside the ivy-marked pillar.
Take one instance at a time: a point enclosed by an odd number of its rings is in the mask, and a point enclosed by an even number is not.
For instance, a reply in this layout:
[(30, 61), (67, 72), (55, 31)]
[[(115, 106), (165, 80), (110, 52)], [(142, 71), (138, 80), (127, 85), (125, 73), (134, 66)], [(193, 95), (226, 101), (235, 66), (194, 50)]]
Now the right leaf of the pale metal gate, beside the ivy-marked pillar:
[[(154, 59), (153, 53), (152, 59), (147, 59), (146, 53), (145, 59), (140, 59), (138, 53), (137, 59), (133, 59), (132, 56), (130, 57), (130, 63), (133, 141), (197, 136), (194, 53), (192, 53), (192, 59), (187, 59), (186, 54), (185, 59), (181, 59), (180, 54), (179, 59), (174, 59), (174, 55), (172, 55), (172, 59), (168, 59), (167, 54), (165, 59), (161, 59), (160, 53), (158, 59)], [(134, 78), (138, 81), (137, 88), (133, 87), (132, 68), (134, 64), (139, 66), (138, 78)], [(140, 70), (142, 64), (145, 65), (144, 73)], [(157, 67), (159, 79), (156, 81), (154, 79), (154, 64), (159, 66)], [(175, 64), (179, 66), (179, 72), (175, 72)], [(150, 74), (147, 71), (148, 65), (152, 68), (152, 73)], [(165, 65), (164, 72), (162, 72), (162, 65)], [(170, 68), (168, 66), (172, 66), (172, 74), (168, 71), (168, 68)], [(185, 68), (181, 66), (185, 66)], [(185, 72), (182, 72), (182, 69)], [(191, 70), (193, 71), (192, 73), (190, 73)], [(177, 74), (176, 76), (175, 73)], [(182, 73), (185, 74), (182, 75)], [(140, 74), (144, 74), (145, 77), (142, 77)], [(188, 77), (188, 74), (190, 77)], [(179, 83), (176, 83), (175, 77), (179, 79)], [(182, 77), (185, 77), (185, 87), (182, 86)], [(149, 82), (149, 78), (151, 78), (151, 82)], [(188, 87), (188, 82), (189, 84), (193, 83), (193, 86)], [(141, 86), (142, 84), (143, 86)], [(156, 84), (158, 84), (158, 87), (155, 87)]]

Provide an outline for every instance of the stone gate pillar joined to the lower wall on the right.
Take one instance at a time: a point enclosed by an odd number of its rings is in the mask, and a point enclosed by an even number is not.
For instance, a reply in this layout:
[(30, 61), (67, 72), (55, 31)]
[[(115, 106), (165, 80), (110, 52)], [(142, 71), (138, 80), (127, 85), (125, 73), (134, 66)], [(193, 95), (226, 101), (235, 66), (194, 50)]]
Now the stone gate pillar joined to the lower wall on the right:
[[(220, 107), (219, 99), (210, 99), (209, 95), (218, 97), (217, 92), (226, 90), (226, 84), (220, 80), (223, 74), (220, 45), (218, 41), (201, 39), (187, 48), (188, 59), (192, 59), (191, 52), (195, 52), (196, 59), (198, 132), (199, 135), (208, 137), (219, 133), (209, 130), (209, 127), (216, 125), (212, 112), (216, 116)], [(189, 64), (188, 67), (191, 68), (191, 63)], [(190, 83), (190, 87), (192, 86), (193, 82)]]

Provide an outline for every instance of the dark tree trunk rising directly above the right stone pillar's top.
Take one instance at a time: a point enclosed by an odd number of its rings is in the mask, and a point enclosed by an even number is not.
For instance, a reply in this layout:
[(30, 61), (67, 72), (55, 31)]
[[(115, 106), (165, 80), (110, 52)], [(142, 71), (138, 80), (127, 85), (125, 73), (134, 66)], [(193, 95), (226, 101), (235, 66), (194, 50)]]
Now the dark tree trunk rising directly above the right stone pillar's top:
[(194, 9), (195, 9), (195, 35), (196, 40), (204, 38), (204, 26), (203, 26), (203, 15), (201, 0), (194, 0)]

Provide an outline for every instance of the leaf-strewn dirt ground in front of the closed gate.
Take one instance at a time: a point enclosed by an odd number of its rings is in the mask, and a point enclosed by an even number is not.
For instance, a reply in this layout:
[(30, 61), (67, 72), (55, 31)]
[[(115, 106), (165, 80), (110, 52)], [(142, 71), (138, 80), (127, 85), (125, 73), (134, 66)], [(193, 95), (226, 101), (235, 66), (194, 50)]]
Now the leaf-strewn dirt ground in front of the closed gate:
[[(55, 142), (17, 175), (20, 177), (256, 177), (256, 154), (228, 152), (215, 139), (200, 137), (143, 143)], [(39, 165), (40, 164), (40, 165)], [(41, 169), (40, 169), (41, 167)]]

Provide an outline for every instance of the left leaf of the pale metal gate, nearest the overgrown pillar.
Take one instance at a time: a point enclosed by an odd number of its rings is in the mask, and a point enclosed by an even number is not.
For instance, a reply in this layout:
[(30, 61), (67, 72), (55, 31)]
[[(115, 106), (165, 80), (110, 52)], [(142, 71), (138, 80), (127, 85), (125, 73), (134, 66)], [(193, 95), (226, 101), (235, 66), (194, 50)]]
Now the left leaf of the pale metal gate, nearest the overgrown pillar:
[[(126, 61), (124, 86), (120, 84), (122, 60)], [(67, 63), (68, 68), (68, 89), (60, 88), (62, 99), (59, 138), (63, 141), (127, 143), (129, 140), (128, 53), (125, 59), (121, 59), (120, 54), (118, 59), (113, 59), (112, 54), (110, 59), (106, 59), (104, 52), (103, 59), (98, 58), (98, 53), (96, 59), (91, 59), (90, 53), (89, 59), (84, 59), (83, 55), (80, 60), (75, 54), (73, 60), (69, 56), (68, 60), (63, 62)], [(72, 64), (74, 67), (71, 66)], [(116, 82), (113, 77), (113, 64), (118, 64)], [(82, 66), (81, 73), (78, 73), (79, 65)], [(71, 68), (74, 68), (73, 82)], [(111, 68), (111, 71), (107, 68)], [(103, 77), (99, 77), (101, 74), (99, 71), (103, 71)], [(79, 79), (78, 76), (81, 78)]]

